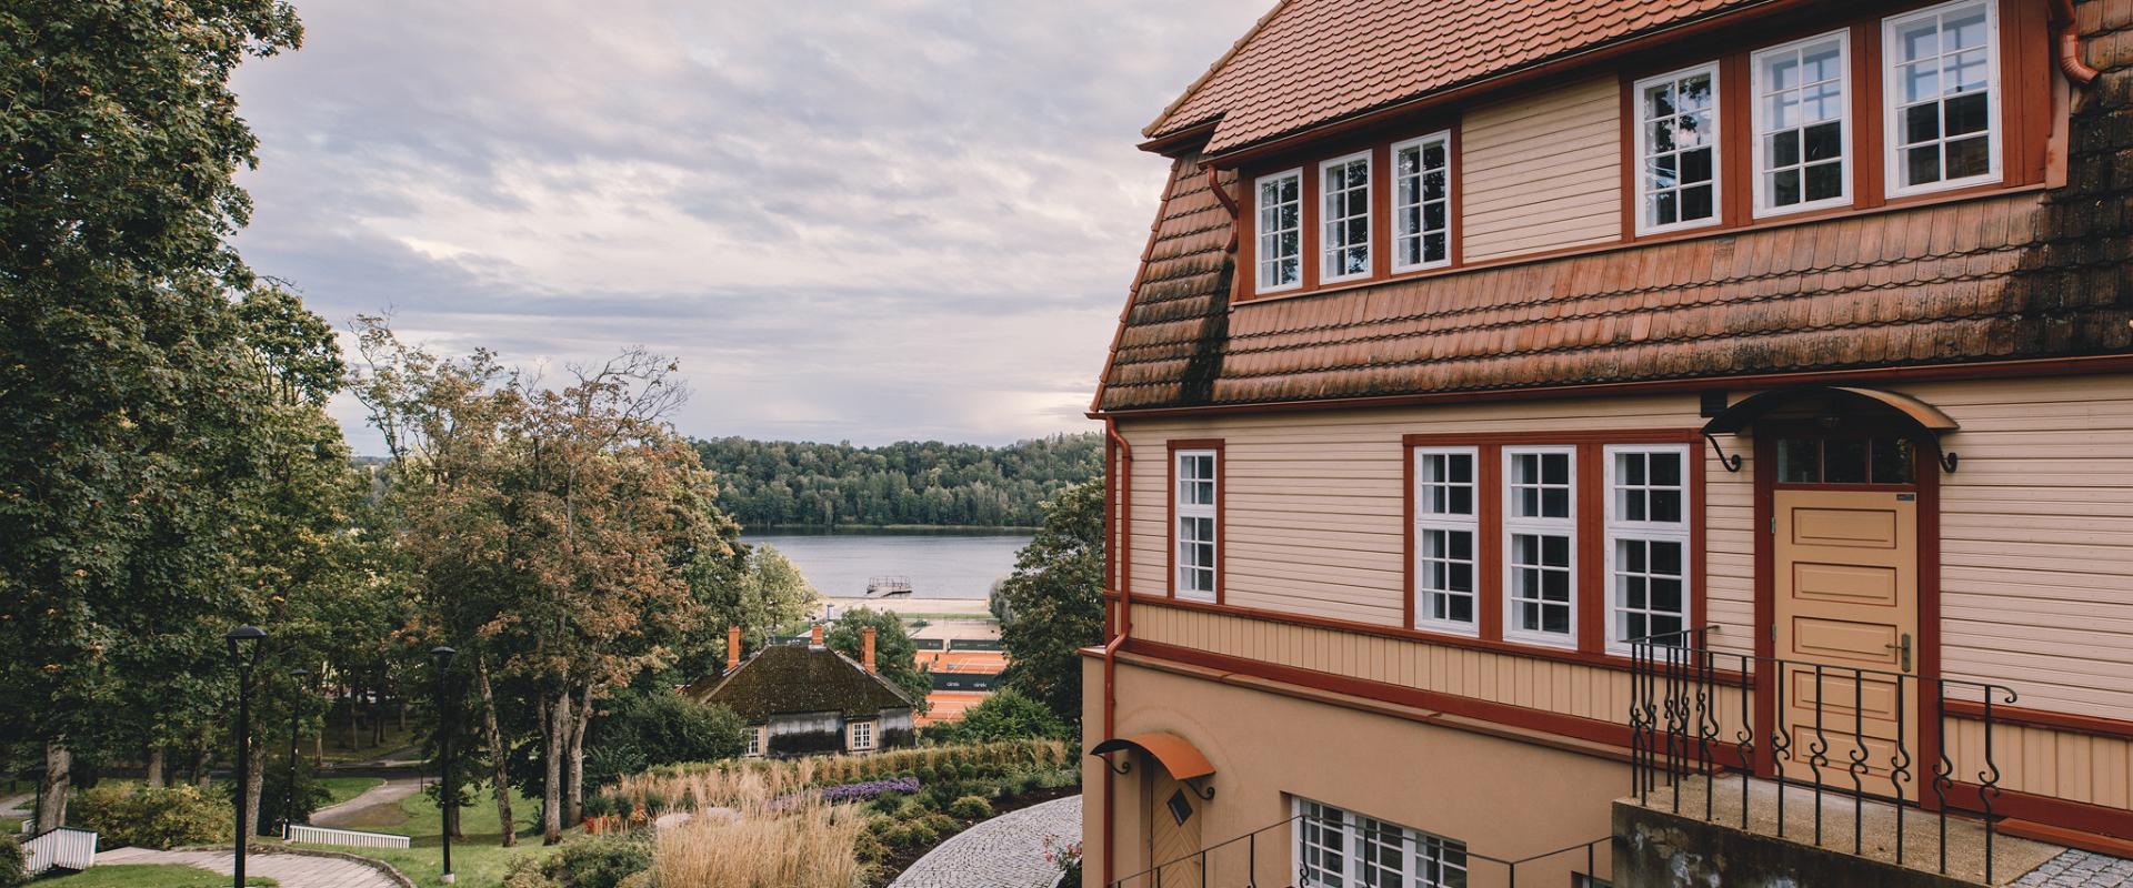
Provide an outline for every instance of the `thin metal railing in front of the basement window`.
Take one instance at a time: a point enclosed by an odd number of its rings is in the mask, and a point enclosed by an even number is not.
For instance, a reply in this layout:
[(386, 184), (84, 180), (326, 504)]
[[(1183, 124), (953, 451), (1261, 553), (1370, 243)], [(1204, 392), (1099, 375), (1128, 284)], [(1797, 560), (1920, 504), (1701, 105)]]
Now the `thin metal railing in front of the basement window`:
[[(1120, 877), (1120, 879), (1111, 882), (1109, 888), (1165, 888), (1165, 886), (1169, 886), (1169, 888), (1261, 888), (1261, 886), (1265, 886), (1265, 888), (1327, 888), (1327, 886), (1335, 886), (1335, 884), (1337, 886), (1367, 884), (1361, 873), (1346, 873), (1346, 877), (1337, 879), (1337, 882), (1325, 882), (1325, 879), (1314, 877), (1312, 875), (1312, 867), (1305, 867), (1303, 860), (1295, 858), (1297, 856), (1297, 848), (1295, 848), (1295, 841), (1293, 841), (1295, 839), (1293, 833), (1295, 833), (1297, 824), (1303, 824), (1303, 822), (1316, 822), (1320, 828), (1342, 831), (1344, 837), (1346, 837), (1346, 831), (1352, 826), (1352, 824), (1348, 824), (1342, 818), (1322, 818), (1322, 816), (1312, 816), (1312, 813), (1297, 813), (1297, 816), (1290, 816), (1286, 820), (1280, 820), (1280, 822), (1261, 826), (1256, 831), (1250, 831), (1246, 835), (1239, 835), (1239, 837), (1233, 837), (1233, 839), (1218, 841), (1214, 845), (1201, 848), (1199, 852), (1184, 854), (1180, 858), (1165, 860), (1165, 862), (1158, 862), (1154, 867), (1148, 867), (1148, 869), (1143, 869), (1139, 873)], [(1585, 843), (1578, 843), (1578, 845), (1557, 848), (1557, 850), (1544, 852), (1544, 854), (1531, 854), (1531, 856), (1523, 856), (1523, 858), (1497, 858), (1497, 856), (1489, 856), (1489, 854), (1476, 854), (1476, 852), (1465, 850), (1463, 845), (1446, 841), (1446, 848), (1442, 848), (1442, 850), (1448, 852), (1450, 856), (1455, 856), (1457, 860), (1448, 862), (1446, 858), (1436, 858), (1436, 865), (1444, 867), (1444, 869), (1455, 869), (1455, 871), (1463, 873), (1465, 877), (1455, 882), (1450, 877), (1444, 877), (1444, 873), (1438, 873), (1438, 877), (1427, 877), (1427, 879), (1423, 879), (1423, 884), (1468, 884), (1470, 879), (1476, 879), (1476, 873), (1482, 873), (1487, 869), (1487, 871), (1502, 873), (1508, 888), (1519, 888), (1521, 867), (1527, 873), (1531, 873), (1531, 875), (1546, 875), (1546, 873), (1534, 873), (1536, 869), (1542, 869), (1544, 865), (1549, 869), (1568, 867), (1572, 875), (1591, 877), (1598, 871), (1595, 867), (1602, 860), (1608, 860), (1608, 854), (1613, 854), (1613, 845), (1610, 843), (1613, 843), (1613, 837), (1600, 837), (1600, 839), (1591, 839), (1591, 841), (1585, 841)], [(1369, 852), (1365, 852), (1365, 854), (1369, 854)], [(1401, 867), (1416, 867), (1418, 865), (1416, 862), (1416, 854), (1414, 854), (1412, 848), (1401, 848), (1399, 860), (1401, 860)], [(1290, 867), (1295, 867), (1295, 869), (1290, 871)], [(1502, 867), (1502, 869), (1497, 869), (1497, 867)], [(1583, 869), (1578, 869), (1578, 867), (1583, 867)], [(1263, 873), (1278, 873), (1278, 877), (1263, 879), (1261, 877)], [(1529, 879), (1527, 884), (1542, 884), (1542, 882)], [(1553, 886), (1555, 882), (1546, 882), (1546, 884)]]

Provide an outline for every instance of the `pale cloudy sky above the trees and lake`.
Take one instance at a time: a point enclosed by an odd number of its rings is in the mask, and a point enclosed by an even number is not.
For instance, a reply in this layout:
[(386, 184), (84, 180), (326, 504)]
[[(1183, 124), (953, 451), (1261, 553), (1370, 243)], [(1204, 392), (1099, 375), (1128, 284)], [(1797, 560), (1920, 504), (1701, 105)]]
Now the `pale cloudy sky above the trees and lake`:
[(1133, 145), (1267, 6), (296, 0), (235, 79), (237, 245), (341, 328), (678, 358), (693, 437), (1088, 430), (1167, 172)]

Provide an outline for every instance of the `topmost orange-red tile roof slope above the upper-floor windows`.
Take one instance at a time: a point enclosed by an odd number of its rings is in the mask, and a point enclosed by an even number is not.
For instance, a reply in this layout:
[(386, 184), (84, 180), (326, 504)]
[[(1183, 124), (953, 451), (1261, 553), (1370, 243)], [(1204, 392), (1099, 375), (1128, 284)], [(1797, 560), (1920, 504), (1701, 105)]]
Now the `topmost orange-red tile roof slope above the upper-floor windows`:
[(1207, 153), (1775, 0), (1282, 0), (1162, 117)]

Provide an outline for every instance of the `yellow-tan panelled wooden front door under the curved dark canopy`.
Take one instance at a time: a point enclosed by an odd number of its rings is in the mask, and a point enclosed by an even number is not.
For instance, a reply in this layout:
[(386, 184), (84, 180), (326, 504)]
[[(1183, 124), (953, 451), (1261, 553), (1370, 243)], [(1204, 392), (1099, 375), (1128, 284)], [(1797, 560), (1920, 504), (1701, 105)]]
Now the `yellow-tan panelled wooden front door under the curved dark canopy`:
[[(1785, 662), (1777, 716), (1790, 733), (1785, 779), (1896, 794), (1890, 771), (1909, 752), (1920, 775), (1918, 494), (1896, 486), (1773, 490), (1773, 639)], [(1819, 675), (1817, 675), (1819, 667)], [(1819, 750), (1819, 756), (1817, 756)]]

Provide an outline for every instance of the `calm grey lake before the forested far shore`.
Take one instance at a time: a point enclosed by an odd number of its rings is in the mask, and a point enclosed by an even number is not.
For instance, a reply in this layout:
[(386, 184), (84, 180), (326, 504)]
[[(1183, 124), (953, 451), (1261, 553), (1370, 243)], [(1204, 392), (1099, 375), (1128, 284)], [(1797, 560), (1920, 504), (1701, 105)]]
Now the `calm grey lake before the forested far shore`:
[(783, 552), (830, 598), (864, 596), (872, 577), (911, 577), (913, 598), (983, 601), (1030, 545), (1020, 530), (774, 530), (740, 539)]

